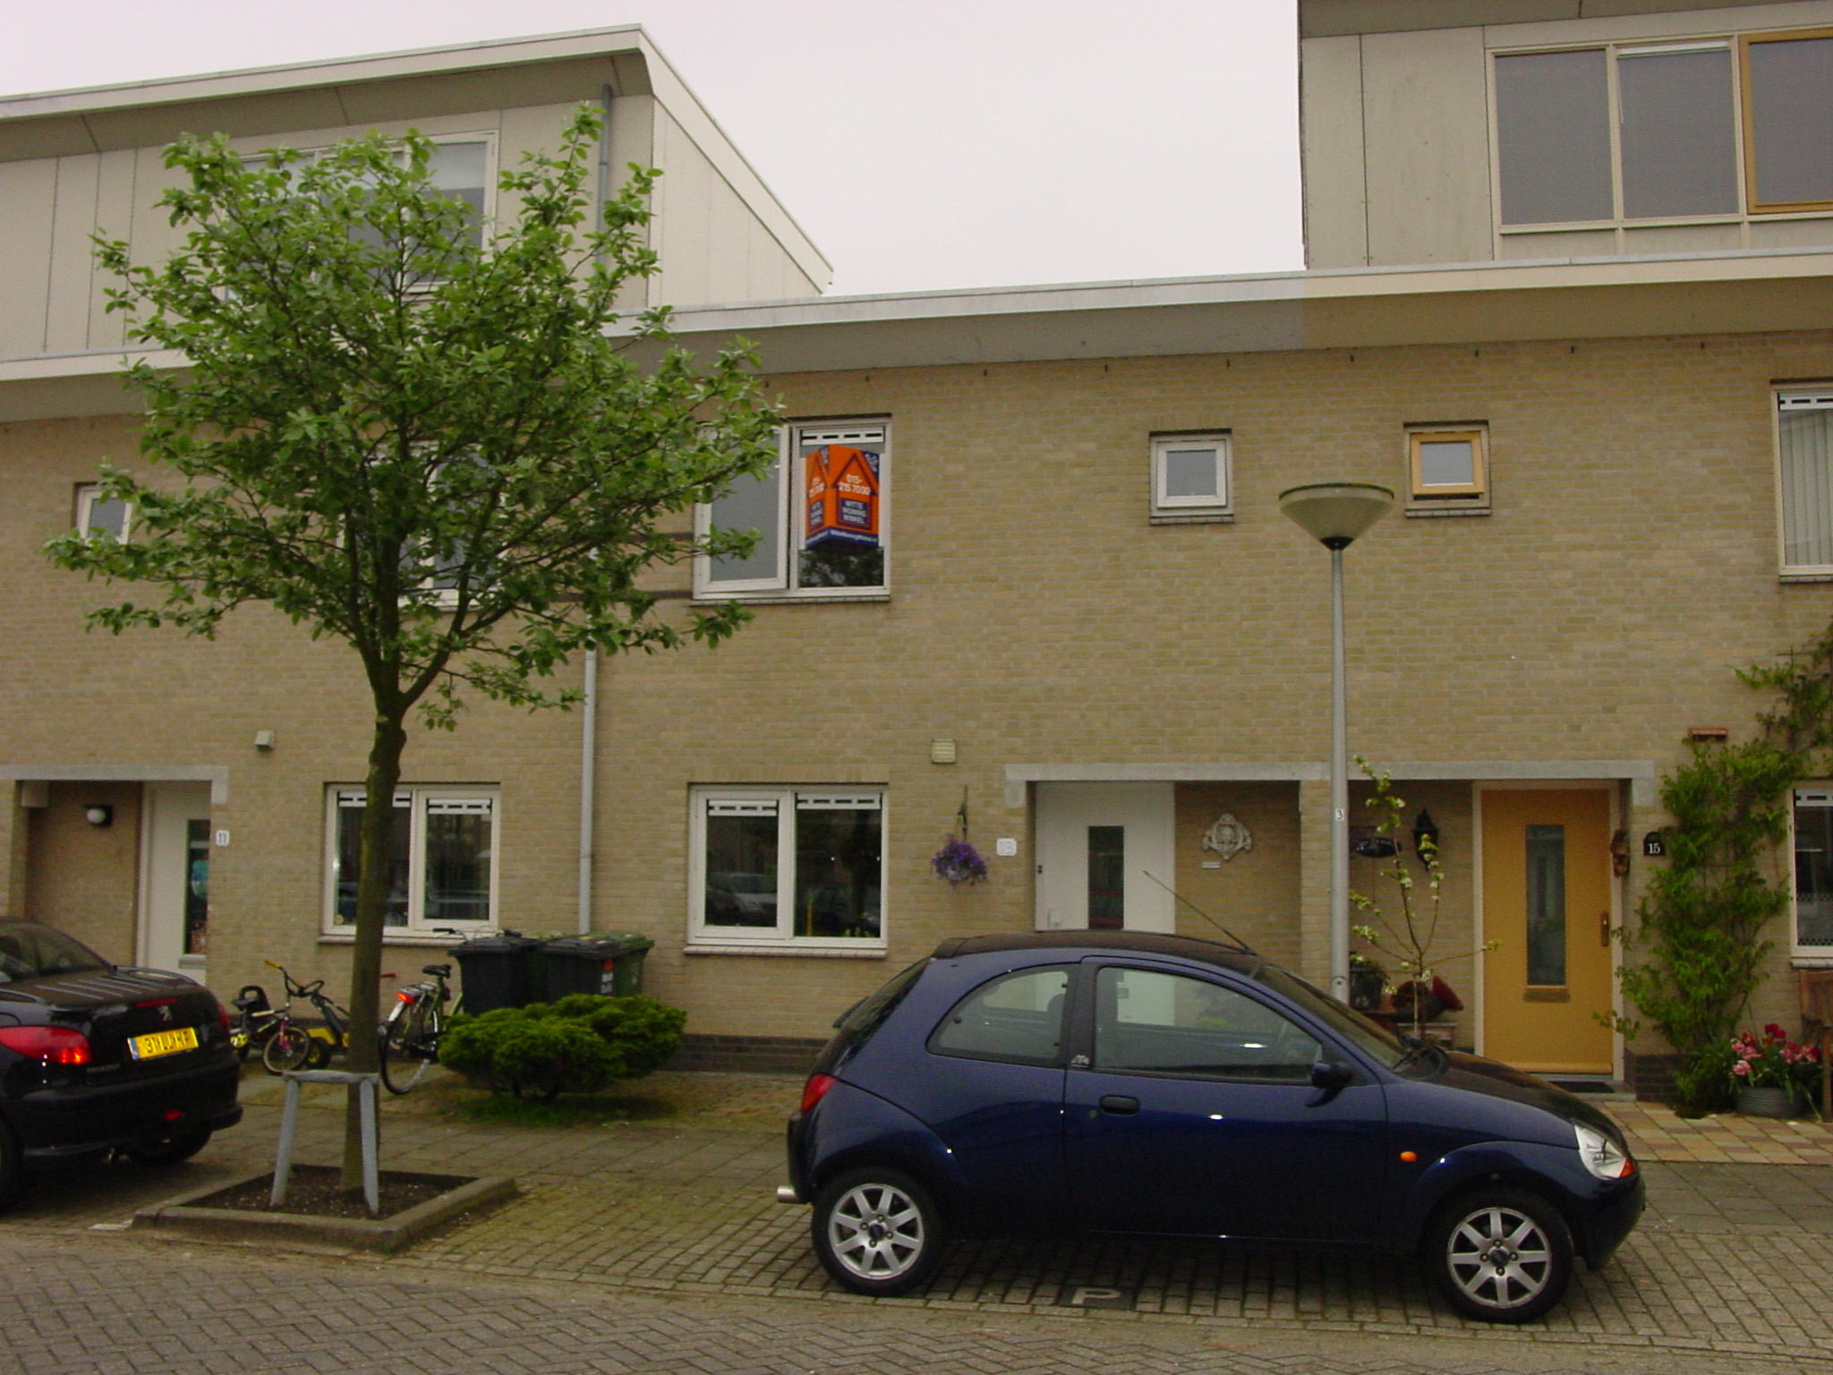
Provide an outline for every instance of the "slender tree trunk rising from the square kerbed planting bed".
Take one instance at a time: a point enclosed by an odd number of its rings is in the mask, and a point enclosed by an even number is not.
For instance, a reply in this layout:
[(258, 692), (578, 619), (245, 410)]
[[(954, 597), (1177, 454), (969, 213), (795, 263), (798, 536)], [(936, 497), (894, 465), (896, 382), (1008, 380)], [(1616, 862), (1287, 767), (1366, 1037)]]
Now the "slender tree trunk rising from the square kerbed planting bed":
[[(389, 842), (394, 838), (394, 788), (401, 781), (407, 748), (405, 708), (376, 713), (376, 735), (363, 781), (363, 849), (356, 886), (356, 946), (350, 950), (348, 1069), (374, 1074), (381, 1065), (376, 1028), (381, 1025), (381, 931), (389, 913)], [(343, 1188), (363, 1188), (363, 1118), (357, 1091), (345, 1111)]]

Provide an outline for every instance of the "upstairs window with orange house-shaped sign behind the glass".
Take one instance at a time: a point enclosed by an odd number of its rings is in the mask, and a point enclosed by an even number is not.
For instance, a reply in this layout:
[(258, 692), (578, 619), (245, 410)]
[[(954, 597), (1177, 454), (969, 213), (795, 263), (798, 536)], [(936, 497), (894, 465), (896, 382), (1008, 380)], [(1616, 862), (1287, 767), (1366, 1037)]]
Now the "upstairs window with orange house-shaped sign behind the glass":
[(698, 596), (858, 596), (887, 590), (891, 425), (797, 424), (770, 471), (698, 508), (708, 530), (755, 530), (739, 559), (698, 559)]

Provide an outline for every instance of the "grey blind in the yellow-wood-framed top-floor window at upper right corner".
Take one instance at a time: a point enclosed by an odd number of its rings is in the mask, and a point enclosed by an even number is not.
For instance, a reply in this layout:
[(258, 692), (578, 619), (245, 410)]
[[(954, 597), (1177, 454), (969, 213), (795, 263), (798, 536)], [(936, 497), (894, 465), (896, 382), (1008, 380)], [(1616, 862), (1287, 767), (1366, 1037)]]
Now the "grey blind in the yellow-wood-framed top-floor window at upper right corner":
[(1758, 205), (1833, 200), (1833, 38), (1751, 44)]

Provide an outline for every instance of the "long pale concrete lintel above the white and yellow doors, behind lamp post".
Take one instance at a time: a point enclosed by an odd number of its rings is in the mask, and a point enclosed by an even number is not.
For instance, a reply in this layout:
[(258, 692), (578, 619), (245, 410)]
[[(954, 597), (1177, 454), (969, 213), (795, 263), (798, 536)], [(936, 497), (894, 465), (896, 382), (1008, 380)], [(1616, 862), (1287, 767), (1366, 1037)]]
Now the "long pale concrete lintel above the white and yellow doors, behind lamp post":
[[(1635, 807), (1655, 805), (1653, 759), (1402, 759), (1375, 761), (1389, 777), (1470, 783), (1628, 779)], [(1329, 763), (1006, 764), (1006, 807), (1025, 805), (1026, 783), (1320, 783)]]

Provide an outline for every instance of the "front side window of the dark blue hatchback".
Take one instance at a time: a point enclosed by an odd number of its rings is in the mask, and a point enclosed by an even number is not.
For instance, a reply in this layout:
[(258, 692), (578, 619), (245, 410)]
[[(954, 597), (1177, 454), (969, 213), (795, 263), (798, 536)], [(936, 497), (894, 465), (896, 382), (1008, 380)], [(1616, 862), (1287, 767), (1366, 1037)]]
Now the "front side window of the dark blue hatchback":
[(1144, 1074), (1301, 1084), (1322, 1047), (1232, 988), (1158, 970), (1094, 975), (1094, 1067)]

